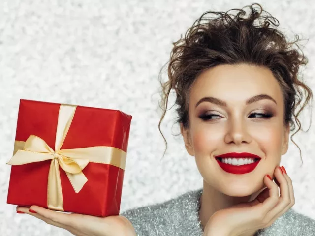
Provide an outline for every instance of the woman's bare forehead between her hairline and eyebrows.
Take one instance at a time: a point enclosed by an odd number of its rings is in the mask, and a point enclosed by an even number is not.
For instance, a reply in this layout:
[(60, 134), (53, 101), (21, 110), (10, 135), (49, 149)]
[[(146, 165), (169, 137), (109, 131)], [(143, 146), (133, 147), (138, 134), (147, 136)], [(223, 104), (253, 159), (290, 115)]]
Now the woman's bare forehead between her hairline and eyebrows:
[(277, 104), (283, 103), (280, 85), (272, 72), (261, 66), (218, 65), (198, 76), (190, 90), (190, 103), (213, 96), (229, 103), (244, 102), (248, 98), (267, 94)]

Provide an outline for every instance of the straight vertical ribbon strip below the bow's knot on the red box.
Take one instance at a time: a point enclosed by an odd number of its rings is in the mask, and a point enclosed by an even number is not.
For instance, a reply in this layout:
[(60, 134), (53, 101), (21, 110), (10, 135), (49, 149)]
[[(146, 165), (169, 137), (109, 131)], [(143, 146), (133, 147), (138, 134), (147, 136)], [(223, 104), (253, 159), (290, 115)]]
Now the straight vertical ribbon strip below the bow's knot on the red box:
[(59, 163), (53, 159), (48, 174), (47, 206), (51, 210), (63, 210), (63, 191), (59, 173)]

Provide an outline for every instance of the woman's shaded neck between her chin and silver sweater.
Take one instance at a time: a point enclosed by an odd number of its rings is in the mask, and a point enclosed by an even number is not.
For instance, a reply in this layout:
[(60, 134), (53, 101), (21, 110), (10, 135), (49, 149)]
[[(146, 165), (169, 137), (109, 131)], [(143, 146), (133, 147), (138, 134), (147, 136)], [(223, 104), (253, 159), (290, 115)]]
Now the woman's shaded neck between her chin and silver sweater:
[[(204, 181), (199, 210), (199, 218), (203, 229), (205, 228), (210, 217), (218, 210), (252, 201), (253, 196), (254, 195), (245, 197), (231, 197), (219, 192)], [(246, 236), (252, 236), (252, 234)]]

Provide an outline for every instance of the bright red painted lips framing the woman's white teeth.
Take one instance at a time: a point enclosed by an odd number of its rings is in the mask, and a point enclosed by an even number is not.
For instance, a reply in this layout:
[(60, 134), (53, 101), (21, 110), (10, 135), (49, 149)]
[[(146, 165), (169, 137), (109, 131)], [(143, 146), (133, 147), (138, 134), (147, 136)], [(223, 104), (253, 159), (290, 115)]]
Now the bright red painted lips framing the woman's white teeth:
[[(255, 158), (255, 162), (251, 164), (246, 164), (246, 165), (241, 165), (241, 166), (234, 166), (231, 164), (223, 163), (222, 158)], [(225, 153), (219, 156), (215, 156), (219, 166), (222, 168), (223, 171), (226, 171), (231, 174), (246, 174), (252, 172), (258, 163), (260, 162), (261, 157), (254, 155), (252, 153), (247, 153), (247, 152), (242, 152), (242, 153), (236, 153), (236, 152), (231, 152), (231, 153)]]

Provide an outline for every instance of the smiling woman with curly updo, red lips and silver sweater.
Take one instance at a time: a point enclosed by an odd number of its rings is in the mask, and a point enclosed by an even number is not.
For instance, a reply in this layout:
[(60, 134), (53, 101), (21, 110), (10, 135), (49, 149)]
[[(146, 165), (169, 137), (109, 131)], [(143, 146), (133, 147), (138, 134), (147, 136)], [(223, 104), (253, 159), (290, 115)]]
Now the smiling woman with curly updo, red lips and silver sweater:
[[(37, 206), (17, 211), (78, 236), (315, 235), (315, 221), (291, 209), (292, 182), (279, 167), (293, 118), (299, 130), (297, 116), (312, 99), (297, 77), (307, 58), (269, 26), (274, 18), (253, 5), (249, 17), (241, 9), (236, 16), (203, 14), (174, 44), (169, 80), (161, 82), (160, 123), (174, 89), (181, 134), (204, 179), (202, 190), (106, 218)], [(209, 13), (218, 17), (207, 19)]]

